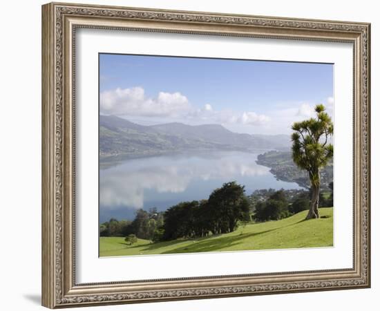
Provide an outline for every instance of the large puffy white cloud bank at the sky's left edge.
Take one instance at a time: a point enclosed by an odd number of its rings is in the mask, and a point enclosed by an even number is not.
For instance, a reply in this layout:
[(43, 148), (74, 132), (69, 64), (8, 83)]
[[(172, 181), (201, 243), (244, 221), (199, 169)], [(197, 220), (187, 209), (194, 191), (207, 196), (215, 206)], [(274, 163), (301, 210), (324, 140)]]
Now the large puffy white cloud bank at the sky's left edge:
[(187, 97), (179, 92), (145, 96), (144, 88), (116, 88), (100, 94), (100, 111), (108, 115), (180, 116), (191, 110)]

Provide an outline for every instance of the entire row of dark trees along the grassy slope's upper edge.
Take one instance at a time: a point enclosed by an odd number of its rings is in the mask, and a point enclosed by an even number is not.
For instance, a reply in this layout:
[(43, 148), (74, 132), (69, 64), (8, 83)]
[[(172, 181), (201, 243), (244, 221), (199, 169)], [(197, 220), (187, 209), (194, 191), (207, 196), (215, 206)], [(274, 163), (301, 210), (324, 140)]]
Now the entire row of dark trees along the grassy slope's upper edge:
[[(319, 194), (320, 207), (333, 206), (331, 192)], [(310, 208), (312, 190), (259, 189), (245, 196), (244, 186), (227, 182), (215, 189), (208, 200), (180, 202), (166, 211), (138, 209), (133, 221), (111, 218), (100, 225), (100, 236), (126, 236), (127, 243), (136, 238), (168, 241), (198, 238), (209, 234), (234, 232), (239, 223), (250, 220), (279, 220)]]

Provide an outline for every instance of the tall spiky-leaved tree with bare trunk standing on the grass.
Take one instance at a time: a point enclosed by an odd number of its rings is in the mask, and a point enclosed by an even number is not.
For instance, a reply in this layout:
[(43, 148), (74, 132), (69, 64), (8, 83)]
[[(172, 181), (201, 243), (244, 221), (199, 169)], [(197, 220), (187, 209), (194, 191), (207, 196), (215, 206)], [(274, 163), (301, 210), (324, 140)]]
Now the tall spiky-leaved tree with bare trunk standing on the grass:
[(332, 158), (334, 148), (328, 143), (334, 126), (325, 106), (315, 106), (316, 118), (295, 122), (292, 125), (292, 156), (294, 163), (309, 174), (312, 200), (306, 219), (319, 218), (319, 191), (321, 189), (320, 169)]

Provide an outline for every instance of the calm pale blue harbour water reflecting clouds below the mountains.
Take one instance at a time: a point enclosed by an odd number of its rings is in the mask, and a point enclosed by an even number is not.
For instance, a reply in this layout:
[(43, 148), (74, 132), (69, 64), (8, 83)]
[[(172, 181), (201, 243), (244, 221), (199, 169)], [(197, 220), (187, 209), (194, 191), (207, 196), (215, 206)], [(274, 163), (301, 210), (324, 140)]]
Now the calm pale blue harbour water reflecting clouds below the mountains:
[(257, 154), (238, 151), (177, 154), (125, 160), (99, 172), (99, 221), (133, 220), (136, 209), (163, 211), (178, 202), (207, 199), (236, 180), (246, 194), (256, 189), (300, 189), (256, 164)]

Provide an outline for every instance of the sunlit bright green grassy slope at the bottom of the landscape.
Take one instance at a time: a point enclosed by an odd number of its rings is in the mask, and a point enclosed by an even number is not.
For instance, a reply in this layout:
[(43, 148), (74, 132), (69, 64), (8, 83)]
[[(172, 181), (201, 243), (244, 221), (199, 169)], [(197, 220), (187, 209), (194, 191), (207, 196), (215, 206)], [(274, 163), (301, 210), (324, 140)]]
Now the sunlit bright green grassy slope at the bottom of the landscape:
[(333, 209), (321, 208), (320, 219), (305, 220), (307, 211), (266, 223), (251, 223), (235, 232), (207, 238), (151, 243), (138, 239), (126, 245), (124, 238), (100, 238), (100, 256), (222, 252), (249, 249), (282, 249), (332, 246)]

